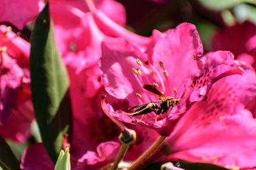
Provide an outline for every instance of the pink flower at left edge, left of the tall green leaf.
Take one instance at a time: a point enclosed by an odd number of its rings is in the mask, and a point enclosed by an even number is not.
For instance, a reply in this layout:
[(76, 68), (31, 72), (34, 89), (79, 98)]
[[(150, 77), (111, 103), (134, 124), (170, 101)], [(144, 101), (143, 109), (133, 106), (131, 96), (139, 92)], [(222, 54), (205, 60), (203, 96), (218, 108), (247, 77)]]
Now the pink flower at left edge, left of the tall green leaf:
[(0, 46), (0, 134), (24, 142), (34, 118), (28, 69), (30, 45), (0, 25)]

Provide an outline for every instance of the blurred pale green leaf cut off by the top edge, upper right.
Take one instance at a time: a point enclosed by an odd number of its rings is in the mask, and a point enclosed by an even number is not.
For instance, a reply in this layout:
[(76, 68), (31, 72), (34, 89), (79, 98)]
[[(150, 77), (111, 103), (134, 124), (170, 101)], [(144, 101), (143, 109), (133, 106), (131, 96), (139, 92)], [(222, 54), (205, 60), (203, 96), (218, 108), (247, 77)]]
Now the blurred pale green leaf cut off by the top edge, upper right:
[(225, 10), (232, 8), (239, 3), (252, 3), (255, 4), (255, 0), (199, 0), (206, 8), (211, 10)]

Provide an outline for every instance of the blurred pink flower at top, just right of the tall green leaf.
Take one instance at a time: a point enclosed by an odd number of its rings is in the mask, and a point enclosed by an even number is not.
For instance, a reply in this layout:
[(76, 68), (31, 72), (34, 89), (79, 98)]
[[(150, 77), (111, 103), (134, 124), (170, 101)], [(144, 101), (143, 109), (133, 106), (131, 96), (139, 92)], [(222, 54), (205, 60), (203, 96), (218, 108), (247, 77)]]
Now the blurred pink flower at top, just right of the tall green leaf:
[[(141, 48), (145, 48), (150, 41), (122, 27), (125, 24), (125, 10), (120, 3), (112, 0), (93, 2), (97, 8), (93, 11), (88, 8), (90, 4), (82, 0), (52, 0), (50, 3), (58, 48), (68, 72), (87, 78), (88, 81), (83, 82), (83, 93), (88, 97), (93, 97), (102, 87), (98, 60), (104, 36), (129, 38), (143, 46)], [(76, 83), (76, 80), (71, 80), (71, 83)]]

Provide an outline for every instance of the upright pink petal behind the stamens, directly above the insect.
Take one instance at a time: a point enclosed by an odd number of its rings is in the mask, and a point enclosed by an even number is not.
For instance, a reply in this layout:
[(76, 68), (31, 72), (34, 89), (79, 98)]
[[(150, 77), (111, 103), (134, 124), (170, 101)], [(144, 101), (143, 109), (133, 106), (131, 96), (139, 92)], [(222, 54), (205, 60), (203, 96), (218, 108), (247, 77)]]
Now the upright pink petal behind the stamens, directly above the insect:
[(200, 57), (202, 53), (203, 46), (196, 27), (188, 23), (167, 31), (166, 36), (156, 43), (152, 56), (154, 66), (158, 71), (163, 71), (159, 66), (159, 62), (163, 62), (170, 79), (167, 82), (161, 73), (167, 86), (165, 94), (171, 95), (173, 88), (177, 88), (178, 96), (181, 96), (184, 92), (184, 83), (199, 71), (193, 57)]

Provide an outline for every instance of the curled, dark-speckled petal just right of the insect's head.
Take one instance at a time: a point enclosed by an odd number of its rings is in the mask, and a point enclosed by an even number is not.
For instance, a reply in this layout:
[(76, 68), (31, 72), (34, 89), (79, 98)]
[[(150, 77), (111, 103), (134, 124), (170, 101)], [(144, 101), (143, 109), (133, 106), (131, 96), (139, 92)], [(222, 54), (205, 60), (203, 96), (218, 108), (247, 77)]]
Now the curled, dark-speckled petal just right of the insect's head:
[(191, 85), (193, 87), (193, 92), (189, 97), (191, 102), (204, 100), (212, 85), (220, 78), (231, 74), (243, 74), (231, 52), (210, 52), (200, 60), (202, 60), (200, 64), (203, 64), (202, 71), (196, 74)]

